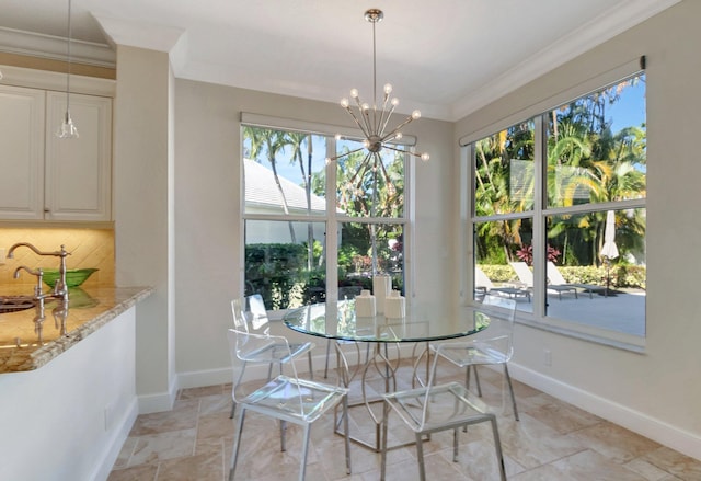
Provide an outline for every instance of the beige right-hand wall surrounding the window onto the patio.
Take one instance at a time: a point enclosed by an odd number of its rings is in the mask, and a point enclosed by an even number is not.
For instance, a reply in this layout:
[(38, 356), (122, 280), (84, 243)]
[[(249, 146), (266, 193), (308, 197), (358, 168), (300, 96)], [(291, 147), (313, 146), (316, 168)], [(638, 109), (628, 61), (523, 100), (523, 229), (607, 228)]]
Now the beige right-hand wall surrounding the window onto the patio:
[[(701, 312), (697, 288), (701, 224), (694, 207), (701, 179), (694, 142), (701, 130), (698, 19), (701, 2), (678, 3), (458, 122), (453, 141), (646, 56), (645, 352), (635, 354), (519, 325), (514, 371), (556, 397), (701, 459)], [(552, 353), (552, 366), (544, 366), (544, 350)]]

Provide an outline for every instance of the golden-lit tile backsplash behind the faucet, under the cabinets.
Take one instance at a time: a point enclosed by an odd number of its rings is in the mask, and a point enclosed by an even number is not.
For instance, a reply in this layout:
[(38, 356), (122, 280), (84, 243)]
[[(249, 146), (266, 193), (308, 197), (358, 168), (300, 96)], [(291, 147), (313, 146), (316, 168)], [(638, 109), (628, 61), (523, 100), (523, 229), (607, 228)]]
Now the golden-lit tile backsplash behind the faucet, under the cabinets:
[[(0, 249), (7, 255), (12, 244), (28, 242), (39, 251), (54, 252), (61, 244), (71, 253), (66, 257), (67, 268), (95, 267), (95, 272), (83, 287), (114, 285), (114, 230), (77, 228), (0, 228)], [(35, 277), (21, 271), (19, 279), (14, 271), (21, 266), (30, 268), (58, 268), (59, 259), (36, 255), (31, 249), (18, 248), (14, 259), (4, 259), (0, 265), (0, 284), (34, 284)]]

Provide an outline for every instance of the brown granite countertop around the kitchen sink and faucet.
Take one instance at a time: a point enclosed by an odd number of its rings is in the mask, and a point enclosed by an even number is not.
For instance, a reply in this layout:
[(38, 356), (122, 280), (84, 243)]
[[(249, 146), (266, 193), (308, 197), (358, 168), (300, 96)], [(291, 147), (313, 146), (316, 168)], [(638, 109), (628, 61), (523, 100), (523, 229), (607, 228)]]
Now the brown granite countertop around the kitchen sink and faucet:
[[(1, 287), (3, 296), (13, 296), (31, 295), (33, 286)], [(72, 288), (65, 335), (56, 328), (51, 312), (60, 304), (47, 299), (42, 343), (35, 331), (35, 308), (0, 313), (0, 374), (38, 369), (152, 293), (151, 287)]]

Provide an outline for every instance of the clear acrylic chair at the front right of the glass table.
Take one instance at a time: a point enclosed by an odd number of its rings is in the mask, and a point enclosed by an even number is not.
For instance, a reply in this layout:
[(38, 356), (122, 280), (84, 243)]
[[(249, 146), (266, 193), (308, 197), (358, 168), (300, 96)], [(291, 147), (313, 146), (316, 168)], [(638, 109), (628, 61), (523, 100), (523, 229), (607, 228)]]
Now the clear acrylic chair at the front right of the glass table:
[(458, 461), (458, 437), (460, 427), (470, 424), (490, 422), (494, 436), (497, 463), (501, 479), (506, 480), (504, 469), (504, 456), (496, 425), (496, 416), (487, 412), (486, 406), (480, 400), (472, 399), (466, 386), (460, 382), (435, 385), (436, 364), (443, 355), (444, 348), (449, 344), (438, 345), (435, 348), (436, 356), (432, 362), (429, 377), (426, 386), (383, 394), (384, 410), (382, 421), (382, 447), (380, 480), (384, 480), (387, 471), (387, 444), (389, 431), (389, 416), (394, 412), (414, 432), (416, 443), (416, 457), (418, 460), (418, 476), (422, 481), (426, 479), (424, 467), (423, 438), (441, 431), (452, 430), (453, 446), (452, 460)]

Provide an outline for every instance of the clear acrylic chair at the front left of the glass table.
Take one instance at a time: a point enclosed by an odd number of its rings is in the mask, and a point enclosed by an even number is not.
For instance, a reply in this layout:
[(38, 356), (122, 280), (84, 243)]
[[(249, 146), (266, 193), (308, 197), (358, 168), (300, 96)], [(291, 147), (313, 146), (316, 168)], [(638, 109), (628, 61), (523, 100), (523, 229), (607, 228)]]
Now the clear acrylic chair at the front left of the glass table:
[[(233, 389), (231, 396), (234, 405), (240, 406), (239, 420), (234, 433), (233, 450), (229, 481), (234, 479), (239, 450), (242, 444), (243, 422), (246, 411), (254, 411), (280, 421), (280, 449), (285, 448), (285, 423), (290, 422), (303, 427), (301, 467), (299, 480), (304, 479), (307, 453), (311, 425), (322, 414), (341, 406), (345, 427), (346, 472), (350, 474), (350, 440), (348, 437), (348, 390), (311, 380), (299, 379), (295, 363), (288, 363), (290, 375), (280, 374), (271, 380), (251, 380), (244, 378), (245, 367), (251, 358), (262, 353), (275, 353), (275, 356), (292, 357), (287, 339), (266, 334), (253, 334), (230, 329), (227, 333), (233, 367)], [(275, 347), (271, 347), (275, 346)]]

